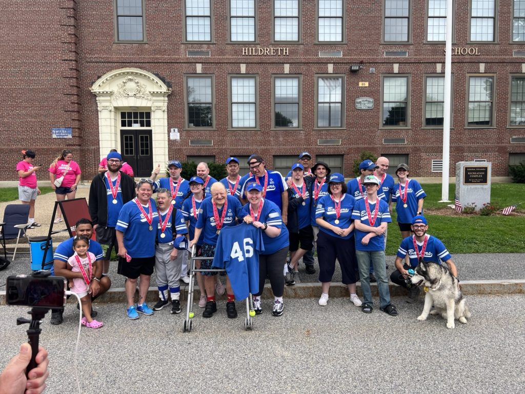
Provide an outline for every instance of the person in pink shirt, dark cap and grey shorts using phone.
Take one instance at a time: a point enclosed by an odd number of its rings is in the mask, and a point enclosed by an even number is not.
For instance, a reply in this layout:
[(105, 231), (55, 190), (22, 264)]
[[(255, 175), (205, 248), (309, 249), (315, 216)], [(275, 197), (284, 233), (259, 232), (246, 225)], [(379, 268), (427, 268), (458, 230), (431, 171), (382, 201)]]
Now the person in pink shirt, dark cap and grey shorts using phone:
[(40, 227), (41, 224), (35, 222), (35, 200), (36, 196), (40, 194), (36, 182), (36, 172), (40, 168), (39, 165), (33, 165), (33, 160), (36, 158), (36, 152), (30, 149), (23, 150), (24, 159), (16, 164), (16, 171), (18, 172), (18, 199), (22, 204), (29, 204), (29, 221), (28, 229)]

